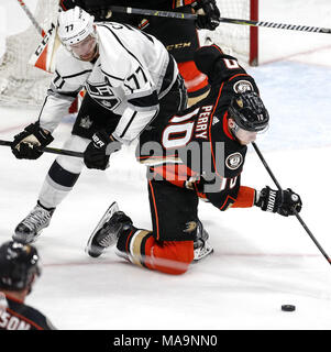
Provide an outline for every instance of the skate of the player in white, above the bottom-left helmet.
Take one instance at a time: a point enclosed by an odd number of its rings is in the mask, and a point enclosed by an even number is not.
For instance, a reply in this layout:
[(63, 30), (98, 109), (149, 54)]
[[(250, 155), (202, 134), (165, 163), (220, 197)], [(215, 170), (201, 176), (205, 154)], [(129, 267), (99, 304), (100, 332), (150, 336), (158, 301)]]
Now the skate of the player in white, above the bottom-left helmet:
[(37, 204), (15, 228), (12, 239), (21, 243), (32, 243), (47, 228), (55, 209), (47, 210)]

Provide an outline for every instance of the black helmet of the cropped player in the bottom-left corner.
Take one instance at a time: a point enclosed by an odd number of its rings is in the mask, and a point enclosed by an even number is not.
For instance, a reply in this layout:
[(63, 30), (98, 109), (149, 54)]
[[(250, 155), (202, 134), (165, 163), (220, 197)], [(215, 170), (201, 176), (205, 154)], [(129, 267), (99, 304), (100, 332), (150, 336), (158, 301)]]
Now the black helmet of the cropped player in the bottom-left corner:
[[(34, 246), (8, 241), (0, 246), (0, 289), (21, 290), (41, 275), (40, 256)], [(29, 287), (29, 292), (31, 287)]]

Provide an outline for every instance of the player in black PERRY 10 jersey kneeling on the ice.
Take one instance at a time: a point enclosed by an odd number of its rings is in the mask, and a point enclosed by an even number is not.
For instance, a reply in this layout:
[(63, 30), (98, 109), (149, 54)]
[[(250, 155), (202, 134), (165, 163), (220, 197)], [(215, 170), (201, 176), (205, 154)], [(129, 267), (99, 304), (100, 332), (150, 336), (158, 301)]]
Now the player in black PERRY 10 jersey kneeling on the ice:
[(114, 207), (88, 242), (91, 256), (117, 244), (118, 254), (134, 264), (181, 274), (194, 260), (199, 198), (221, 211), (253, 206), (282, 216), (300, 211), (291, 189), (241, 185), (247, 145), (269, 122), (254, 79), (217, 45), (198, 50), (195, 61), (211, 85), (208, 97), (141, 138), (137, 158), (148, 167), (153, 230), (135, 228)]

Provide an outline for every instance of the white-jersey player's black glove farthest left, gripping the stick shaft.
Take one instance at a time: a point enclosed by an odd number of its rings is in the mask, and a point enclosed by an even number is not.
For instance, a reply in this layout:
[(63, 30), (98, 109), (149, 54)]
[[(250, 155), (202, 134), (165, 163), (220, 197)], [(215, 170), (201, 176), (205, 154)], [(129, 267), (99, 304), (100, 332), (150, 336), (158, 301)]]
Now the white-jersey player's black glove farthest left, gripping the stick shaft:
[(52, 134), (45, 132), (40, 123), (35, 122), (14, 136), (11, 151), (16, 158), (36, 160), (43, 154), (43, 148), (53, 141)]

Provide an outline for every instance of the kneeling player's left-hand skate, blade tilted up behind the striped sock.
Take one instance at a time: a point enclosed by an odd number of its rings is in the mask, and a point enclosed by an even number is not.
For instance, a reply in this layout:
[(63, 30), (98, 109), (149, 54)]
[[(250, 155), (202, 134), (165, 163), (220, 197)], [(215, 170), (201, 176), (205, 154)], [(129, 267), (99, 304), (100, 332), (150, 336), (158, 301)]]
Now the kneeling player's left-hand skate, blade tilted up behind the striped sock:
[(102, 252), (114, 245), (122, 230), (132, 226), (132, 221), (123, 211), (119, 210), (114, 201), (106, 211), (95, 231), (90, 235), (86, 252), (92, 257), (98, 257)]

